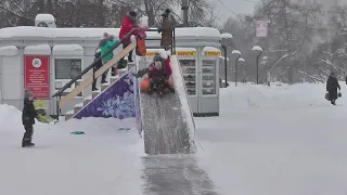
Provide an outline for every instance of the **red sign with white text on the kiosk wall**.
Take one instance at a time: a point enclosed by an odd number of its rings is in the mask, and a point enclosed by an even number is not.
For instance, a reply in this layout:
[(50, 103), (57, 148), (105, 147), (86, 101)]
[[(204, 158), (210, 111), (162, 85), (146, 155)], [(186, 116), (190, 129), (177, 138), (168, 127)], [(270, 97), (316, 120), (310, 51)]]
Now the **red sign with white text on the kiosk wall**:
[(50, 56), (25, 55), (24, 88), (33, 91), (37, 99), (50, 98)]

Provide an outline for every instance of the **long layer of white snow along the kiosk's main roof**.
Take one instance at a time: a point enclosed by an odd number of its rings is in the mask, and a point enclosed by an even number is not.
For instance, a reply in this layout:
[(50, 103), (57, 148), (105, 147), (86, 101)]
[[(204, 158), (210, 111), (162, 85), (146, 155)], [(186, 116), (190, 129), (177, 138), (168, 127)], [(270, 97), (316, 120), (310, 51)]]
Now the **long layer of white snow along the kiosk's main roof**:
[[(118, 37), (119, 28), (42, 28), (18, 26), (0, 29), (0, 39), (9, 38), (101, 38), (104, 32)], [(156, 31), (147, 31), (150, 38), (160, 38)], [(176, 37), (213, 37), (220, 39), (219, 30), (209, 27), (176, 28)]]

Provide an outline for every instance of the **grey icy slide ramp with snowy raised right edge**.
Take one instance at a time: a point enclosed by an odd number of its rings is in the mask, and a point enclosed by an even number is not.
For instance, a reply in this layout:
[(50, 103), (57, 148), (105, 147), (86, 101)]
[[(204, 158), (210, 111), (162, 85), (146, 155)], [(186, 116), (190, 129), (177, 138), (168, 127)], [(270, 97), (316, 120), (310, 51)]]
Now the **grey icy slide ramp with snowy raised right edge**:
[[(178, 60), (171, 57), (176, 93), (163, 98), (140, 92), (141, 129), (146, 154), (189, 154), (195, 152), (195, 125), (190, 109)], [(149, 66), (151, 57), (140, 57), (138, 69)], [(139, 80), (141, 82), (141, 80)]]

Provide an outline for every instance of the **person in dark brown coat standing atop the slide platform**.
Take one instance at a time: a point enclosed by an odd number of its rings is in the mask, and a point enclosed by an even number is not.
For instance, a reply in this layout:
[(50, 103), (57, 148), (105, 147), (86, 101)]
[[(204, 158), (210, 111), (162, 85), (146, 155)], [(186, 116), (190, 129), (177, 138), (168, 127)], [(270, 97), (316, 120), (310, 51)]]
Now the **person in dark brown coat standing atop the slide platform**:
[(165, 50), (168, 50), (170, 46), (172, 46), (174, 32), (172, 30), (176, 27), (176, 20), (170, 14), (171, 11), (169, 9), (165, 10), (165, 13), (162, 14), (163, 21), (162, 25), (158, 28), (158, 32), (162, 32), (160, 47)]

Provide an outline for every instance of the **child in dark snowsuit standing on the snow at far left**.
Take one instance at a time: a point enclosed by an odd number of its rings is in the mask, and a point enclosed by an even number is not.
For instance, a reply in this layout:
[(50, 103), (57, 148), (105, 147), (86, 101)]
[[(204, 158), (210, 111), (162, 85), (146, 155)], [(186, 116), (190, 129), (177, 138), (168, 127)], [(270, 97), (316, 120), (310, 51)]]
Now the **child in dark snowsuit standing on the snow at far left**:
[(22, 122), (25, 129), (25, 133), (22, 140), (22, 147), (29, 147), (35, 145), (31, 142), (35, 118), (38, 118), (38, 115), (34, 106), (34, 94), (31, 91), (25, 90), (24, 107), (22, 113)]

